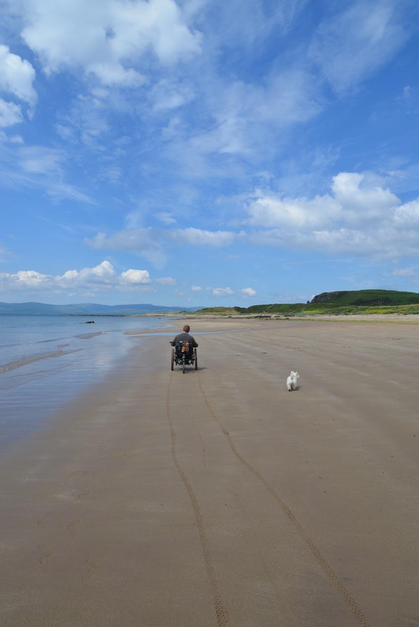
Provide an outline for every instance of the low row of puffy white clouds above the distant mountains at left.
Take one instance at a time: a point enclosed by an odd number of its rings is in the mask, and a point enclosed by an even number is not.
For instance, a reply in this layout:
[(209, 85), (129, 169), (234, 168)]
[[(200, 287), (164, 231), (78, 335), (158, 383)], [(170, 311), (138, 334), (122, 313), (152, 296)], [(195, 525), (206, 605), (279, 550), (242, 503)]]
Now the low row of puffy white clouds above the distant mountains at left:
[(102, 261), (93, 268), (66, 270), (62, 275), (48, 275), (36, 270), (19, 270), (16, 273), (0, 273), (3, 290), (68, 290), (90, 289), (95, 292), (149, 290), (151, 278), (147, 270), (125, 270), (120, 275), (109, 261)]

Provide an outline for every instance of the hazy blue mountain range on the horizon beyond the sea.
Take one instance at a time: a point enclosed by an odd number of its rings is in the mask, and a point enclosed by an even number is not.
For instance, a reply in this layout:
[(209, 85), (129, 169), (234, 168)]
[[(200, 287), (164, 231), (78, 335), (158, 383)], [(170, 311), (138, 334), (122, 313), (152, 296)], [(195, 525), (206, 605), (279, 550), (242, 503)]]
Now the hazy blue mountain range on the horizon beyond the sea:
[(195, 312), (201, 307), (162, 307), (141, 303), (140, 305), (100, 305), (99, 303), (77, 303), (74, 305), (48, 305), (46, 303), (0, 303), (1, 314), (31, 315), (130, 315), (158, 314), (167, 312)]

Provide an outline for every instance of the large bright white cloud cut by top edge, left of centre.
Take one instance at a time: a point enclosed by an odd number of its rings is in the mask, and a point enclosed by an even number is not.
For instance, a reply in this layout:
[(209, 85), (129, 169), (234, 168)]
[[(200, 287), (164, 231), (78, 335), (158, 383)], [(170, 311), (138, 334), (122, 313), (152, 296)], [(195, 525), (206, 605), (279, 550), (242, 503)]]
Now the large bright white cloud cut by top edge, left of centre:
[(150, 52), (172, 65), (201, 50), (174, 0), (23, 0), (21, 18), (23, 40), (47, 74), (82, 68), (103, 85), (141, 85), (135, 66)]

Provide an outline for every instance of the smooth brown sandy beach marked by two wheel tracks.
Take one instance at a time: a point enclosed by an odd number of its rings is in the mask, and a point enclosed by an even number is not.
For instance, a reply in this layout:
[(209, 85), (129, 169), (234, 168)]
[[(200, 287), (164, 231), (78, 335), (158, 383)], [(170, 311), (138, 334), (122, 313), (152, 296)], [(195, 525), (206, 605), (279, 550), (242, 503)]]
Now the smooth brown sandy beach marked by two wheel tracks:
[(3, 456), (3, 627), (419, 625), (419, 327), (241, 322)]

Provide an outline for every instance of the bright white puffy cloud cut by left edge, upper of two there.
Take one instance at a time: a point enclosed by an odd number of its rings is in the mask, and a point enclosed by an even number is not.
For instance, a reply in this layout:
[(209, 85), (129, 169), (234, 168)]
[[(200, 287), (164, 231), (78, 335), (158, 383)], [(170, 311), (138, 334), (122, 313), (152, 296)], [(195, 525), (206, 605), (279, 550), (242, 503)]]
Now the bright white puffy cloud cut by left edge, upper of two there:
[(35, 70), (29, 61), (0, 44), (0, 91), (13, 93), (19, 100), (33, 106), (36, 102), (34, 80)]

